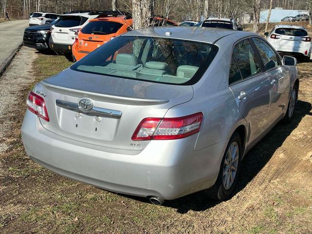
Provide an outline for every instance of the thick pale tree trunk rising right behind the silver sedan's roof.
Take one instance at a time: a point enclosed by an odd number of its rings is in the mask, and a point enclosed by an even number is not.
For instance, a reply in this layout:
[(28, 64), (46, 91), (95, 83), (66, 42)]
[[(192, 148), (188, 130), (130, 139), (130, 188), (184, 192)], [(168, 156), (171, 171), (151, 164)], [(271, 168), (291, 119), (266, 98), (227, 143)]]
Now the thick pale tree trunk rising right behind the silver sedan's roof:
[(153, 0), (132, 0), (133, 29), (146, 28), (150, 26), (153, 16)]

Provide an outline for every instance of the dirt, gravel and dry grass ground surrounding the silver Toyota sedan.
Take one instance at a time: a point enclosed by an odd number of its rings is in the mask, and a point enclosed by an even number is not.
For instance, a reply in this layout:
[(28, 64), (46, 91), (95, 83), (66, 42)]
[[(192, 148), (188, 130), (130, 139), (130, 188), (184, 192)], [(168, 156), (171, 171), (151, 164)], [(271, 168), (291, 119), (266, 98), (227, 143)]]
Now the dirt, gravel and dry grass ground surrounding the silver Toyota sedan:
[(163, 206), (61, 177), (25, 155), (26, 95), (68, 65), (23, 47), (0, 78), (0, 233), (312, 233), (312, 63), (298, 64), (292, 123), (277, 124), (244, 158), (232, 199), (199, 192)]

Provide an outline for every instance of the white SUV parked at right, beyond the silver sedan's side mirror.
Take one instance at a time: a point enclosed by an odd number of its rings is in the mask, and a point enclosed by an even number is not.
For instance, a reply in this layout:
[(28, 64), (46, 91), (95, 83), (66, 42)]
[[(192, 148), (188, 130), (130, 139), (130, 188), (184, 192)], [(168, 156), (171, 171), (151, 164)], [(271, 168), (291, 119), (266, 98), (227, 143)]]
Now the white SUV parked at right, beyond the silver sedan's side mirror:
[(265, 33), (265, 36), (278, 53), (310, 61), (311, 37), (308, 36), (308, 31), (304, 27), (275, 25), (271, 33)]

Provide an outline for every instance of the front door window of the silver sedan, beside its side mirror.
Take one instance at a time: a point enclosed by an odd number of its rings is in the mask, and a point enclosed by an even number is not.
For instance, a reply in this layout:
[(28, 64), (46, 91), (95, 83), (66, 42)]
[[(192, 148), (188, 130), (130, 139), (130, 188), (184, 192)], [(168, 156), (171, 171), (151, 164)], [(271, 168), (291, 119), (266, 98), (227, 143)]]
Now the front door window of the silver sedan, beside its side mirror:
[(268, 71), (277, 67), (278, 59), (270, 45), (260, 38), (253, 38), (253, 41), (258, 48), (265, 70)]

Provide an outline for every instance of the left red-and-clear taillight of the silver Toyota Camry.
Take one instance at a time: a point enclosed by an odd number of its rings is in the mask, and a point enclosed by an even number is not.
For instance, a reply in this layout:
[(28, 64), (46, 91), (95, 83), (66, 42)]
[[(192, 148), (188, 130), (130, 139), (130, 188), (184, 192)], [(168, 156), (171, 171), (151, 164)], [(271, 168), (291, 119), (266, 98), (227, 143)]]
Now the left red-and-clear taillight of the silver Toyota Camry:
[(47, 108), (45, 107), (45, 101), (42, 97), (35, 94), (34, 92), (30, 92), (27, 97), (27, 108), (32, 113), (35, 113), (37, 116), (43, 118), (46, 121), (50, 121)]

